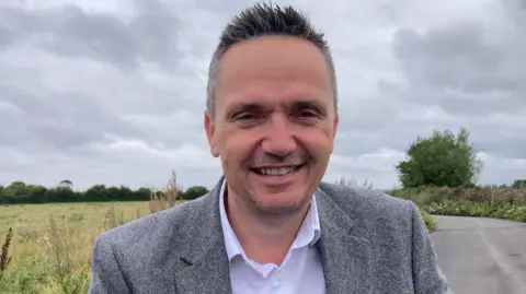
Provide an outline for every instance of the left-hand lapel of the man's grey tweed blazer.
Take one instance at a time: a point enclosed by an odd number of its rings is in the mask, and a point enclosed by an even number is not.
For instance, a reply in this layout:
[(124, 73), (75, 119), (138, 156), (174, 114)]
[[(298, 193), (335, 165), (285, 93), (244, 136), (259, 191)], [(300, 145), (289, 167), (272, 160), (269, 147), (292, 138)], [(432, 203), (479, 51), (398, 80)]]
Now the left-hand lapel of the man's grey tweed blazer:
[(179, 294), (231, 294), (230, 272), (225, 239), (219, 216), (219, 191), (224, 177), (216, 187), (204, 196), (203, 211), (196, 213), (199, 223), (191, 223), (193, 231), (182, 236), (188, 247), (182, 250), (180, 259), (187, 268), (175, 273)]

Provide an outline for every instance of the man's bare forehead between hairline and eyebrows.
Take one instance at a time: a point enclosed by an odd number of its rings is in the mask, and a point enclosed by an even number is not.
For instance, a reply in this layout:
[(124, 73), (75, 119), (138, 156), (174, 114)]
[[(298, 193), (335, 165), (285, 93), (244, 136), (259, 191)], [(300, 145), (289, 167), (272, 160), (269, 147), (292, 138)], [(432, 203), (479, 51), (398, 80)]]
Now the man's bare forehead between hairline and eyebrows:
[(217, 109), (252, 102), (332, 102), (323, 54), (307, 40), (260, 37), (237, 44), (221, 58), (216, 80)]

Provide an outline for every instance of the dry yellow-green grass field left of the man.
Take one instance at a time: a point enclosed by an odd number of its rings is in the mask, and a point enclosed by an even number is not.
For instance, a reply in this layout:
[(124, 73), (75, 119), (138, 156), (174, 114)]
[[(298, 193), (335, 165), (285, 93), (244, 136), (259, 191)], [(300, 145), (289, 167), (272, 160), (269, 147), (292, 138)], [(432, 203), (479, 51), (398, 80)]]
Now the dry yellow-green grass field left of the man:
[(145, 201), (0, 207), (0, 232), (13, 230), (9, 246), (12, 259), (1, 278), (0, 293), (85, 293), (95, 237), (150, 213), (155, 210), (150, 204)]

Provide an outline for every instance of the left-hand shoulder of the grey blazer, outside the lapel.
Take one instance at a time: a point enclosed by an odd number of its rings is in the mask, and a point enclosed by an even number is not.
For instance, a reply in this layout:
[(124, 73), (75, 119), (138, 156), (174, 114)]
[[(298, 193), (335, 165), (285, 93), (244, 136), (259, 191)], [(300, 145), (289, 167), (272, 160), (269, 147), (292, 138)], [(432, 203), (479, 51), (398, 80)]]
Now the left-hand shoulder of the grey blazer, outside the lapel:
[(133, 292), (164, 293), (172, 274), (187, 267), (182, 255), (197, 252), (196, 243), (215, 233), (214, 199), (208, 193), (100, 234), (93, 246), (93, 272), (99, 277), (118, 272)]

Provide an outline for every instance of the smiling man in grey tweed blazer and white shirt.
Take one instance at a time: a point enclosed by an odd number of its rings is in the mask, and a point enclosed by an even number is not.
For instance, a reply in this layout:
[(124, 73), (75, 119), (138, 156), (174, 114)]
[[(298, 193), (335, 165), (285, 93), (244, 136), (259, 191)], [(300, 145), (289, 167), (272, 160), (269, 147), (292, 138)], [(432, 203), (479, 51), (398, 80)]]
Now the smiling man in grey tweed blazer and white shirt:
[(102, 234), (91, 294), (450, 293), (416, 207), (321, 183), (339, 125), (323, 35), (256, 4), (225, 28), (204, 127), (206, 196)]

